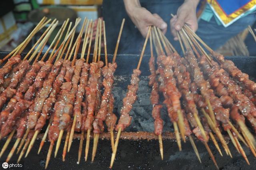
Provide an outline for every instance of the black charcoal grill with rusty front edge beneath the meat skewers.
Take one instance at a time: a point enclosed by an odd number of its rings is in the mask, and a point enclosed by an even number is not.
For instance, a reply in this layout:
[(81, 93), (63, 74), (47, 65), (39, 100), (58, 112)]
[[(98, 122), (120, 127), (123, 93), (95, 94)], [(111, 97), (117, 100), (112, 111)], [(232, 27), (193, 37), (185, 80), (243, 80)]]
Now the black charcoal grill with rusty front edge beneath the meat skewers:
[[(0, 58), (6, 56), (7, 52), (0, 52)], [(23, 53), (22, 56), (26, 55)], [(41, 56), (43, 56), (42, 54)], [(123, 79), (117, 80), (118, 84), (115, 87), (122, 88), (126, 90), (127, 85), (129, 84), (130, 74), (132, 74), (132, 70), (136, 68), (139, 60), (138, 55), (132, 54), (119, 54), (117, 55), (116, 62), (118, 64), (118, 68), (116, 69), (115, 76), (122, 77)], [(148, 67), (148, 55), (145, 55), (140, 70), (142, 71), (141, 78), (146, 82), (146, 76), (150, 74), (149, 67)], [(80, 55), (78, 55), (80, 58)], [(102, 56), (102, 60), (104, 56)], [(112, 55), (108, 55), (109, 61), (112, 61)], [(249, 76), (255, 80), (256, 78), (256, 57), (226, 57), (226, 59), (232, 60), (236, 66), (249, 74)], [(104, 60), (103, 60), (104, 61)], [(149, 87), (148, 87), (149, 88)], [(143, 93), (142, 90), (138, 91), (138, 94)], [(145, 93), (145, 92), (144, 92)], [(150, 92), (149, 92), (150, 93)], [(115, 101), (116, 102), (116, 101)], [(151, 106), (145, 106), (151, 109)], [(118, 108), (114, 111), (118, 112)], [(148, 116), (151, 117), (151, 112), (148, 111)], [(138, 112), (134, 112), (135, 116), (138, 116)], [(161, 113), (165, 114), (165, 113)], [(136, 119), (139, 117), (136, 117)], [(114, 163), (113, 169), (116, 170), (142, 170), (142, 169), (152, 169), (152, 170), (212, 170), (215, 169), (212, 160), (210, 160), (210, 156), (208, 152), (204, 148), (204, 145), (196, 140), (196, 146), (198, 147), (198, 151), (200, 153), (200, 157), (202, 160), (202, 164), (197, 160), (196, 155), (190, 145), (189, 142), (183, 143), (182, 142), (182, 151), (178, 151), (178, 146), (175, 142), (175, 136), (171, 132), (173, 131), (170, 126), (170, 120), (168, 116), (163, 118), (166, 121), (164, 125), (164, 134), (163, 134), (163, 145), (164, 145), (164, 160), (162, 161), (160, 158), (159, 153), (159, 145), (158, 145), (158, 137), (154, 135), (153, 130), (144, 130), (144, 127), (134, 128), (130, 127), (127, 129), (128, 132), (123, 132), (121, 134), (121, 140), (118, 145), (118, 152), (116, 155), (116, 161)], [(134, 120), (134, 119), (133, 119)], [(134, 120), (132, 123), (133, 126), (141, 126), (140, 124), (141, 119)], [(168, 124), (169, 121), (169, 124)], [(132, 126), (131, 125), (131, 126)], [(44, 130), (42, 131), (44, 132)], [(110, 134), (105, 132), (100, 135), (100, 140), (98, 144), (98, 150), (93, 163), (90, 161), (84, 162), (84, 150), (82, 153), (82, 159), (80, 164), (76, 164), (77, 156), (78, 156), (78, 147), (79, 147), (79, 134), (74, 135), (74, 141), (72, 144), (72, 148), (70, 152), (66, 155), (66, 161), (62, 162), (62, 148), (64, 147), (64, 140), (60, 145), (60, 151), (57, 155), (57, 158), (51, 158), (50, 164), (48, 166), (49, 170), (59, 170), (59, 169), (86, 169), (86, 170), (95, 170), (95, 169), (109, 169), (108, 166), (110, 164), (110, 158), (112, 150), (110, 148)], [(65, 135), (64, 135), (65, 137)], [(40, 154), (37, 154), (37, 150), (40, 144), (40, 138), (42, 138), (42, 134), (38, 136), (38, 140), (34, 143), (34, 147), (32, 148), (30, 154), (27, 158), (22, 159), (21, 164), (23, 164), (24, 170), (44, 170), (45, 162), (46, 162), (46, 154), (48, 152), (48, 148), (50, 146), (50, 142), (46, 142)], [(228, 141), (228, 138), (226, 138)], [(5, 139), (0, 141), (0, 146), (3, 146)], [(13, 144), (15, 142), (15, 138), (12, 139), (8, 149), (5, 151), (4, 155), (0, 159), (0, 164), (5, 162), (5, 159), (10, 152)], [(92, 144), (92, 141), (91, 141)], [(221, 146), (221, 144), (219, 143)], [(233, 155), (233, 159), (229, 156), (224, 155), (221, 157), (218, 151), (216, 150), (215, 146), (212, 142), (209, 142), (209, 146), (218, 162), (218, 166), (220, 169), (223, 170), (251, 170), (256, 169), (256, 160), (253, 158), (250, 150), (243, 146), (246, 155), (248, 156), (248, 160), (250, 162), (250, 166), (248, 166), (245, 160), (242, 158), (240, 154), (237, 153), (236, 149), (232, 144), (229, 144), (230, 151)], [(89, 154), (91, 156), (92, 153), (92, 145), (90, 147)], [(224, 152), (223, 152), (224, 153)], [(16, 163), (18, 156), (14, 154), (10, 163)], [(89, 157), (90, 160), (90, 157)]]

